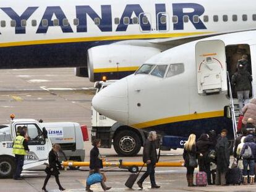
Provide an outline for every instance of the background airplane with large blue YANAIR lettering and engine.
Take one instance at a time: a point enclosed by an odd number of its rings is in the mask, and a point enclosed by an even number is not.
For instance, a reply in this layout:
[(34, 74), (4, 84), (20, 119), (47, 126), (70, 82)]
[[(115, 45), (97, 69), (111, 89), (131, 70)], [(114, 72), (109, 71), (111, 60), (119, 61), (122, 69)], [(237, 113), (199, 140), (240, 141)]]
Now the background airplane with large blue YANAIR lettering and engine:
[(254, 29), (255, 6), (250, 0), (2, 0), (0, 69), (75, 67), (91, 81), (119, 79), (179, 44)]

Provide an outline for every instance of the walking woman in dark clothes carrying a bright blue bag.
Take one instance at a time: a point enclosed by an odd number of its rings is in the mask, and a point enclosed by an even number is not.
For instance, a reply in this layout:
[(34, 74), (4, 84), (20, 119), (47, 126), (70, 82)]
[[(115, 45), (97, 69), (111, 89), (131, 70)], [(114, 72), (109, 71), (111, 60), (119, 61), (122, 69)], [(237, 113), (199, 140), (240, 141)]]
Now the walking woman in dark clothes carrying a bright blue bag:
[[(99, 151), (101, 145), (101, 140), (95, 139), (93, 140), (93, 148), (90, 151), (90, 172), (89, 175), (93, 174), (93, 173), (101, 173), (100, 169), (103, 169), (103, 164), (102, 164), (102, 157)], [(88, 175), (88, 176), (89, 176)], [(108, 187), (105, 185), (105, 181), (102, 180), (101, 181), (101, 187), (104, 191), (110, 190), (111, 187)], [(90, 185), (86, 186), (85, 191), (90, 191), (92, 192), (92, 190), (90, 189)]]

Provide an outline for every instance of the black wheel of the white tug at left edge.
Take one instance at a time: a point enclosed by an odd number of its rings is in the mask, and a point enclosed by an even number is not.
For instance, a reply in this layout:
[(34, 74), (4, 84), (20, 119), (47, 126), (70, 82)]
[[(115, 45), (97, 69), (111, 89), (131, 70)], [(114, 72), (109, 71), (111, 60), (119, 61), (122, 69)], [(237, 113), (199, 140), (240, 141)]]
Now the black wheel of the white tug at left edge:
[(12, 178), (15, 169), (14, 158), (0, 157), (0, 178)]

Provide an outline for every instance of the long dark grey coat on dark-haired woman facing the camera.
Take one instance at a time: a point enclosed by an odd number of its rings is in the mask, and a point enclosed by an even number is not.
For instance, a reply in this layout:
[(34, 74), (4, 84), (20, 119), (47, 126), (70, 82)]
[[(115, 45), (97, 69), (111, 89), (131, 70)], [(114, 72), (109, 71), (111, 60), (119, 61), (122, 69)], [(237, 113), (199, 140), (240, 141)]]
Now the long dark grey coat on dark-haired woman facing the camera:
[(224, 173), (229, 167), (229, 148), (228, 138), (219, 137), (216, 144), (216, 160), (217, 169), (219, 172)]

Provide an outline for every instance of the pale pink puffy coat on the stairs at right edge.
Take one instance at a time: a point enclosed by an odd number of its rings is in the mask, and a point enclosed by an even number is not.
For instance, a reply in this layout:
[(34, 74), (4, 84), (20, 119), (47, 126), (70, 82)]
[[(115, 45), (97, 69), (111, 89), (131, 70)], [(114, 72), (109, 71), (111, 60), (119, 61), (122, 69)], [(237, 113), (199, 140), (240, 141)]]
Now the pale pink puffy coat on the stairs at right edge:
[(242, 120), (244, 124), (247, 123), (249, 118), (252, 118), (254, 120), (253, 124), (256, 125), (256, 99), (252, 99), (250, 103), (246, 104), (242, 109), (242, 113), (244, 114), (244, 119)]

